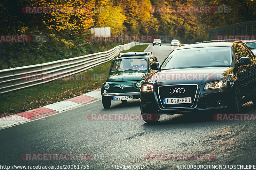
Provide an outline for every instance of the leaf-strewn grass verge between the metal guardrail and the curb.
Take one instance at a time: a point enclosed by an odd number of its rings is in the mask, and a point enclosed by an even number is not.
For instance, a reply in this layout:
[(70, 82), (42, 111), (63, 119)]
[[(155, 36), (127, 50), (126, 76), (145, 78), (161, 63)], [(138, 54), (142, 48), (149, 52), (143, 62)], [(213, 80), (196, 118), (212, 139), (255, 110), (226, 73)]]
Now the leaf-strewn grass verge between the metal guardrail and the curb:
[[(143, 51), (148, 45), (138, 45), (122, 52)], [(0, 96), (0, 113), (15, 114), (82, 95), (100, 88), (106, 81), (111, 61), (87, 70), (87, 81), (52, 81)], [(85, 78), (87, 79), (87, 78)]]

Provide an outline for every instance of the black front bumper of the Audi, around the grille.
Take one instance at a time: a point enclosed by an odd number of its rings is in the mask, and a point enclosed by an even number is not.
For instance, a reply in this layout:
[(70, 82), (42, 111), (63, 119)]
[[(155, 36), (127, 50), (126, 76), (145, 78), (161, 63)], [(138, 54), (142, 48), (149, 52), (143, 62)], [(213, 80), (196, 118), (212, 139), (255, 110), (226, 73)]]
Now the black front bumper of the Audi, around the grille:
[[(228, 108), (230, 101), (230, 90), (228, 88), (203, 90), (204, 85), (199, 85), (193, 106), (190, 108), (164, 108), (159, 99), (157, 90), (154, 92), (140, 93), (140, 110), (145, 114), (166, 114), (191, 113), (200, 111), (210, 111)], [(218, 102), (221, 104), (218, 104)]]

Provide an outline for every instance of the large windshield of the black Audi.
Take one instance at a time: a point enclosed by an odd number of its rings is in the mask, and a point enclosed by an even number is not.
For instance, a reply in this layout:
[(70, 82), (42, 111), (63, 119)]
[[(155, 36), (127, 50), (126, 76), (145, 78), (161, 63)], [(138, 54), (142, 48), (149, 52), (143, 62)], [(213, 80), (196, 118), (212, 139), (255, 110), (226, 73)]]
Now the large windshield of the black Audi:
[(161, 69), (230, 66), (231, 47), (204, 47), (174, 50)]

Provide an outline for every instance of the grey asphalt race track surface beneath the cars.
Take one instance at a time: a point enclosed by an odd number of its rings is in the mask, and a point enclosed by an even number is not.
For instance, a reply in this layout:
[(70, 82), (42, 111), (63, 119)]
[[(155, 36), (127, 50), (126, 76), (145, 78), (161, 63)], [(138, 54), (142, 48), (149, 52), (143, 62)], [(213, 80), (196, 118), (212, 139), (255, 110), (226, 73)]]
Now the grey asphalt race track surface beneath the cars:
[[(147, 51), (162, 62), (174, 47), (154, 46)], [(156, 124), (144, 121), (91, 121), (89, 114), (139, 114), (140, 100), (101, 100), (37, 121), (0, 130), (0, 165), (144, 165), (145, 169), (178, 170), (183, 165), (253, 165), (256, 158), (254, 121), (214, 121), (212, 114), (162, 115)], [(249, 102), (244, 113), (256, 113)], [(25, 153), (90, 153), (88, 161), (26, 161)], [(148, 160), (148, 153), (212, 153), (213, 160)], [(142, 166), (142, 167), (144, 167)], [(112, 168), (111, 168), (112, 167)], [(69, 168), (71, 169), (71, 168)], [(134, 168), (135, 169), (135, 168)]]

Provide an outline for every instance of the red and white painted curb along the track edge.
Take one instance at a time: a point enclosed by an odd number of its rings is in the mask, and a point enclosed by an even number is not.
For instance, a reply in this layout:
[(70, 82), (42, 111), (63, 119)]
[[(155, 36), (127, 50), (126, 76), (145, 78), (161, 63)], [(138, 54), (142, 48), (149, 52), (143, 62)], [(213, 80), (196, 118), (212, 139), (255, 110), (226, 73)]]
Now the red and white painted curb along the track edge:
[(17, 124), (33, 121), (36, 119), (41, 119), (45, 116), (53, 115), (64, 110), (68, 110), (86, 103), (90, 103), (94, 100), (98, 100), (101, 98), (100, 90), (101, 88), (68, 100), (53, 103), (33, 110), (28, 110), (26, 112), (21, 112), (18, 114), (2, 117), (0, 118), (0, 130)]

